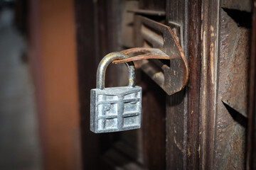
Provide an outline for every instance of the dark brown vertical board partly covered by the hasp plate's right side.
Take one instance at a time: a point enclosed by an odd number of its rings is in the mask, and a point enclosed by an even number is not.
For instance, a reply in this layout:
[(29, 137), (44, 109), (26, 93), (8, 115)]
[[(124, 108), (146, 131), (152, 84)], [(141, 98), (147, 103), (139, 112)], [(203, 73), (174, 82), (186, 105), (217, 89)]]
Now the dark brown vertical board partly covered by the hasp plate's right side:
[[(188, 1), (169, 0), (166, 4), (166, 23), (181, 26), (180, 42), (188, 59), (187, 8)], [(189, 83), (189, 82), (188, 82)], [(187, 167), (187, 87), (182, 91), (166, 96), (166, 168), (186, 169)]]

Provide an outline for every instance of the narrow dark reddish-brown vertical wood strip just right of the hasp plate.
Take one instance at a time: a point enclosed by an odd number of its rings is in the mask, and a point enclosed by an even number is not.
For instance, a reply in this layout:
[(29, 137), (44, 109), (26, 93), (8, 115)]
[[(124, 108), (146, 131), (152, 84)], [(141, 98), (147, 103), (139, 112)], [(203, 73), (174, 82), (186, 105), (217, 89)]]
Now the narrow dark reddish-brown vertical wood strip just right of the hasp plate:
[(188, 169), (199, 169), (201, 1), (188, 3)]

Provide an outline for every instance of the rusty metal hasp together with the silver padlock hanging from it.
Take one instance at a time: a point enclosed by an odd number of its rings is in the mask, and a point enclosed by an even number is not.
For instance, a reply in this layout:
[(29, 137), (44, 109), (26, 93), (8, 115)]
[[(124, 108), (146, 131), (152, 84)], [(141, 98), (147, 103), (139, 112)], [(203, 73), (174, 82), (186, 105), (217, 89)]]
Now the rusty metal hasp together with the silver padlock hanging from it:
[[(137, 16), (137, 45), (106, 55), (97, 69), (97, 88), (91, 90), (90, 129), (92, 132), (118, 132), (140, 128), (142, 88), (135, 86), (135, 68), (140, 67), (166, 94), (186, 86), (188, 64), (176, 35), (168, 26)], [(160, 60), (166, 60), (164, 64)], [(129, 68), (129, 86), (105, 88), (107, 66), (125, 62)]]

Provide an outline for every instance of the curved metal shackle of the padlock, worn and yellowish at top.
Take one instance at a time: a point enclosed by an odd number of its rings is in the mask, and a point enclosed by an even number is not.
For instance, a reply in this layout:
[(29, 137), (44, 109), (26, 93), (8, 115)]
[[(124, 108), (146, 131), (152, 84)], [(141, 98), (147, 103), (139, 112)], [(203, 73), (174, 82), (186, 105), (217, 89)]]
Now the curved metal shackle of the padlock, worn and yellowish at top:
[[(123, 60), (127, 59), (128, 55), (123, 54), (122, 52), (111, 52), (110, 54), (106, 55), (100, 61), (100, 64), (97, 68), (97, 79), (96, 79), (96, 88), (97, 89), (104, 89), (105, 88), (105, 73), (107, 66), (113, 62), (114, 60)], [(133, 62), (126, 62), (125, 63), (129, 69), (129, 84), (128, 86), (135, 86), (135, 67)]]

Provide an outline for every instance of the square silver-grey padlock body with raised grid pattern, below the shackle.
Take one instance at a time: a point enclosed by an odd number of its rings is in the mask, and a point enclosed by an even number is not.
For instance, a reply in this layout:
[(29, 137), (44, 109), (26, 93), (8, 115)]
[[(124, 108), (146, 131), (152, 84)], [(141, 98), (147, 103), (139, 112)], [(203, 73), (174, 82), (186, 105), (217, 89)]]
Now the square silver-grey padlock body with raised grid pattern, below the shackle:
[(142, 119), (142, 88), (92, 89), (90, 130), (95, 133), (138, 129)]

